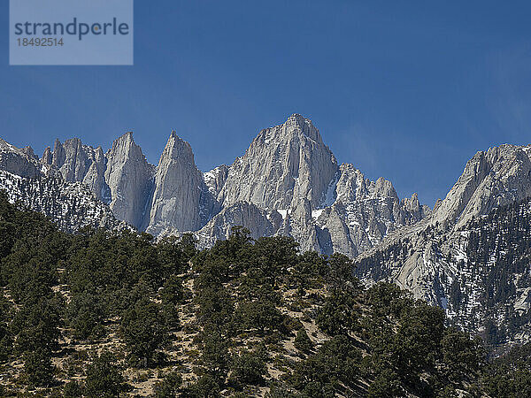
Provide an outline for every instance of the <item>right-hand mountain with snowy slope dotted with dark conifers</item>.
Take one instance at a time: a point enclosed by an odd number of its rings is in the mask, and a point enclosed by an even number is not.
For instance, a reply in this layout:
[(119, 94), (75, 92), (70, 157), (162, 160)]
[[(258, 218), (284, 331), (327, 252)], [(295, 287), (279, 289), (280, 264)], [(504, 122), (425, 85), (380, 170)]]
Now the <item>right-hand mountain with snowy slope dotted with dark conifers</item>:
[(429, 217), (358, 256), (358, 276), (396, 281), (495, 348), (529, 341), (530, 149), (478, 152)]

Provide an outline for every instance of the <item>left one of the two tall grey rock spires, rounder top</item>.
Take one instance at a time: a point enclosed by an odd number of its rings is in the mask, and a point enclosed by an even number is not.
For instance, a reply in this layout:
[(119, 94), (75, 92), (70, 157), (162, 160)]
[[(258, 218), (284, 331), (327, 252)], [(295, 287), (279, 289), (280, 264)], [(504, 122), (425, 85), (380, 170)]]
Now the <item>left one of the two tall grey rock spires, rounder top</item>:
[(105, 157), (104, 181), (110, 190), (112, 212), (116, 218), (142, 229), (149, 219), (154, 167), (135, 144), (133, 133), (112, 142)]

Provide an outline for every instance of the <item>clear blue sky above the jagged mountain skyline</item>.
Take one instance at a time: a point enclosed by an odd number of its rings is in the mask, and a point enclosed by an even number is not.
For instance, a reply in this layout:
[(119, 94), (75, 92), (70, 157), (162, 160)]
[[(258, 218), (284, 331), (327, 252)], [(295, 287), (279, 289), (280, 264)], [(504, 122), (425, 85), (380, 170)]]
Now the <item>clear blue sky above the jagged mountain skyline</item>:
[(94, 67), (9, 66), (0, 4), (0, 136), (39, 155), (133, 130), (157, 163), (174, 128), (205, 171), (298, 112), (433, 205), (477, 150), (531, 142), (528, 2), (135, 0), (135, 66)]

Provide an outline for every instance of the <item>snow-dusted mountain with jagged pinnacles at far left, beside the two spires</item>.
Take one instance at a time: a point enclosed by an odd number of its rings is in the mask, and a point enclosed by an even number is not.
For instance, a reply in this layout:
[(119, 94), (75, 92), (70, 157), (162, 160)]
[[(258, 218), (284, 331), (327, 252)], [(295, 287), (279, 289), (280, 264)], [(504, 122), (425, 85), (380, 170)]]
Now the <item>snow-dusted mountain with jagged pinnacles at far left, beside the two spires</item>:
[(65, 147), (56, 142), (53, 155), (47, 149), (40, 161), (31, 147), (18, 149), (0, 139), (0, 188), (10, 202), (43, 213), (65, 231), (123, 229), (126, 225), (91, 190), (95, 185), (89, 176), (95, 169), (90, 165), (103, 159), (100, 155), (70, 140)]

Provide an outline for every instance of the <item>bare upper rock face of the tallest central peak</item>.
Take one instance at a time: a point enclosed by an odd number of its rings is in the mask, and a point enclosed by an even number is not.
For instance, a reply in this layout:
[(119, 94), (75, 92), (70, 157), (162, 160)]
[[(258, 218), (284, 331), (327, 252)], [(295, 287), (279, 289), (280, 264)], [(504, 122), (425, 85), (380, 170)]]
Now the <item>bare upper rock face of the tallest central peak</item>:
[(319, 207), (337, 172), (334, 155), (309, 119), (292, 115), (262, 130), (228, 172), (219, 203), (256, 204), (262, 209), (295, 208), (300, 200)]

